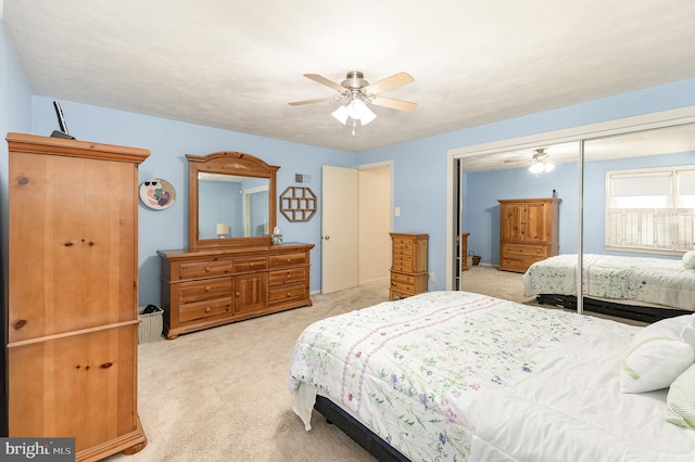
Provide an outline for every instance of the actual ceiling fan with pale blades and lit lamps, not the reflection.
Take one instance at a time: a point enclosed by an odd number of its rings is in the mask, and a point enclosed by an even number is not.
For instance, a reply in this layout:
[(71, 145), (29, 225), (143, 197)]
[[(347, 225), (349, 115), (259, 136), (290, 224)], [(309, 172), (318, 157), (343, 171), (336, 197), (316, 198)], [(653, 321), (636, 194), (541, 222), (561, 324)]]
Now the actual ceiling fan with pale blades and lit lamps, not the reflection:
[(332, 88), (338, 92), (338, 94), (328, 98), (319, 98), (317, 100), (295, 101), (290, 103), (290, 105), (301, 106), (305, 104), (323, 103), (326, 101), (345, 101), (345, 104), (333, 111), (331, 115), (343, 125), (348, 124), (349, 117), (352, 118), (352, 134), (355, 134), (357, 120), (359, 120), (359, 124), (364, 126), (377, 117), (377, 115), (369, 108), (369, 105), (371, 104), (396, 111), (413, 111), (417, 106), (416, 103), (410, 103), (409, 101), (394, 100), (393, 98), (386, 98), (377, 94), (414, 82), (415, 79), (406, 73), (394, 74), (391, 77), (387, 77), (375, 84), (369, 84), (365, 80), (364, 74), (359, 70), (349, 72), (345, 80), (341, 84), (337, 84), (318, 74), (304, 74), (304, 77)]

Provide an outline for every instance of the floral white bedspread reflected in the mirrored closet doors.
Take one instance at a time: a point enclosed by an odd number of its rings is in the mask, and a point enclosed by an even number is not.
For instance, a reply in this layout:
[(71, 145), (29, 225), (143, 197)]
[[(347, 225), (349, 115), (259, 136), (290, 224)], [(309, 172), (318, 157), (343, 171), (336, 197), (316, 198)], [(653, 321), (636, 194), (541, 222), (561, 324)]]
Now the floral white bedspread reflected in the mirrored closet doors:
[[(584, 254), (584, 296), (695, 311), (695, 270), (678, 259)], [(577, 294), (577, 255), (538, 261), (523, 274), (527, 296)]]

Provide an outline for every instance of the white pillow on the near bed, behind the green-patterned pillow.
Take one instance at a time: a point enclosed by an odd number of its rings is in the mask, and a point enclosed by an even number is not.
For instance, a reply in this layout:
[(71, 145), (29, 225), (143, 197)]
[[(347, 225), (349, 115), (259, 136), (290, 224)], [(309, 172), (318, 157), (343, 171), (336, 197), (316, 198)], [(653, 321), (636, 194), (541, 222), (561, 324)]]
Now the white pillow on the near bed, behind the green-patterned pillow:
[(664, 319), (640, 331), (620, 369), (620, 392), (643, 393), (667, 388), (695, 362), (695, 315)]

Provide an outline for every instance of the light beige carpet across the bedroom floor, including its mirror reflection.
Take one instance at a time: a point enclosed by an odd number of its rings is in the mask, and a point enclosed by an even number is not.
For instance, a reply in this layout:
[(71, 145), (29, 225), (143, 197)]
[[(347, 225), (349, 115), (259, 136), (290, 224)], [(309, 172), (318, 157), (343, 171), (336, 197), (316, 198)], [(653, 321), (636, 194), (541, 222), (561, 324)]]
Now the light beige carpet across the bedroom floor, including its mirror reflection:
[[(521, 274), (477, 266), (463, 288), (516, 301)], [(312, 297), (312, 307), (139, 346), (139, 414), (148, 446), (119, 462), (374, 461), (314, 412), (313, 429), (292, 411), (289, 363), (312, 322), (388, 299), (388, 282)]]

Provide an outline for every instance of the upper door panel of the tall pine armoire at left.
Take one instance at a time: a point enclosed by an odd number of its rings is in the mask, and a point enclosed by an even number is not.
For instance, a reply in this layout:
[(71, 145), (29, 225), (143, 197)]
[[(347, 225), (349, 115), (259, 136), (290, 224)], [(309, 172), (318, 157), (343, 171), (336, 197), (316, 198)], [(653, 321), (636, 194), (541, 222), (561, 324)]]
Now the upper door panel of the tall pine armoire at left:
[(135, 319), (132, 165), (10, 156), (10, 342)]

